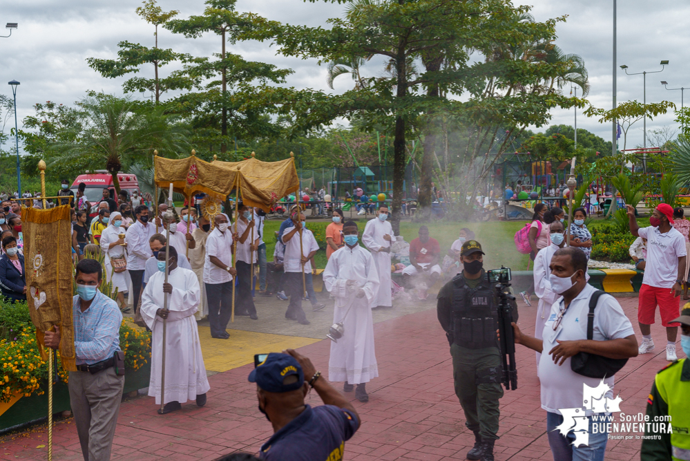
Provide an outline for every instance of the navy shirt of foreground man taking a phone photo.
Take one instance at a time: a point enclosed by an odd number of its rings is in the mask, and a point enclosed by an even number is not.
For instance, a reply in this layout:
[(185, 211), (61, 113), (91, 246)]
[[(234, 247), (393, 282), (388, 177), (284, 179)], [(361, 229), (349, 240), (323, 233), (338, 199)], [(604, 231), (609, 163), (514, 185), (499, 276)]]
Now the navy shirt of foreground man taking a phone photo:
[(340, 461), (345, 440), (357, 430), (357, 417), (344, 408), (305, 405), (294, 420), (283, 426), (261, 447), (268, 461)]

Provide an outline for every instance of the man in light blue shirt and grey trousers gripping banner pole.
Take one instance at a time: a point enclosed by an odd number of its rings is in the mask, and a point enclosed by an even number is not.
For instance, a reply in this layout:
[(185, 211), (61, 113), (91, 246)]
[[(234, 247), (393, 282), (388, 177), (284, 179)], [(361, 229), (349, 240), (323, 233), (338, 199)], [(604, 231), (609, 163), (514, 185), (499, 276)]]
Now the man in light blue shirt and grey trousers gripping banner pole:
[[(120, 350), (122, 313), (115, 301), (98, 291), (103, 278), (98, 261), (82, 259), (76, 272), (73, 321), (77, 371), (70, 371), (70, 404), (84, 461), (109, 460), (124, 388), (124, 364), (116, 372), (114, 357)], [(46, 332), (45, 343), (53, 349), (59, 347), (58, 326), (55, 332)]]

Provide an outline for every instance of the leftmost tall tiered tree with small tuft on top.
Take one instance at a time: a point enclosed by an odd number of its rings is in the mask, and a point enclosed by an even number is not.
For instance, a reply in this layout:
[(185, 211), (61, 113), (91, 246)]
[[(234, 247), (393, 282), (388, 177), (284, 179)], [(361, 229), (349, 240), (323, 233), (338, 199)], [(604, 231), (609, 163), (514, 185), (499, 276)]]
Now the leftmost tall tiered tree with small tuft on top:
[(171, 48), (158, 48), (158, 26), (178, 15), (178, 11), (165, 12), (157, 6), (155, 0), (144, 1), (144, 6), (137, 8), (137, 15), (154, 26), (155, 44), (148, 48), (142, 44), (133, 44), (129, 41), (121, 41), (117, 46), (117, 59), (98, 59), (89, 57), (86, 59), (90, 68), (108, 78), (115, 78), (128, 73), (138, 73), (144, 64), (153, 65), (153, 78), (132, 77), (124, 82), (125, 93), (151, 91), (158, 104), (163, 93), (173, 90), (191, 90), (195, 80), (186, 75), (182, 70), (174, 70), (167, 77), (160, 77), (162, 66), (175, 61), (195, 62), (191, 56), (184, 53), (175, 53)]

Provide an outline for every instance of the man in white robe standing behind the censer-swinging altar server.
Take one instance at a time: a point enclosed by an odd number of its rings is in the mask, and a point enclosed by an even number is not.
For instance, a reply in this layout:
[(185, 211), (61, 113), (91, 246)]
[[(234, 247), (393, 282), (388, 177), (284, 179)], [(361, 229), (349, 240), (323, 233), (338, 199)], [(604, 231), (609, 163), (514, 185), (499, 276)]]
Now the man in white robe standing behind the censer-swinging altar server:
[(378, 272), (378, 290), (371, 300), (372, 309), (392, 308), (390, 287), (390, 245), (394, 241), (393, 227), (387, 221), (388, 207), (378, 207), (376, 218), (369, 220), (364, 227), (362, 241), (372, 252)]

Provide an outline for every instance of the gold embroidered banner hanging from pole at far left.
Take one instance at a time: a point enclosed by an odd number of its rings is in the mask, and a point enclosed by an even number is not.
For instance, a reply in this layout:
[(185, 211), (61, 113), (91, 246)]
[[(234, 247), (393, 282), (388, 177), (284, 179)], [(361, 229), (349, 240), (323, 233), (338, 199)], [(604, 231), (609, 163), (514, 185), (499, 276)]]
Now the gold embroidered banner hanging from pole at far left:
[(31, 321), (36, 326), (41, 355), (47, 357), (44, 350), (44, 333), (57, 325), (60, 328), (59, 350), (62, 368), (76, 371), (70, 207), (22, 207), (21, 221), (26, 300)]

